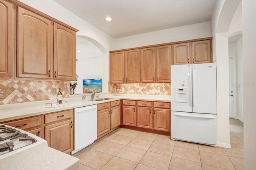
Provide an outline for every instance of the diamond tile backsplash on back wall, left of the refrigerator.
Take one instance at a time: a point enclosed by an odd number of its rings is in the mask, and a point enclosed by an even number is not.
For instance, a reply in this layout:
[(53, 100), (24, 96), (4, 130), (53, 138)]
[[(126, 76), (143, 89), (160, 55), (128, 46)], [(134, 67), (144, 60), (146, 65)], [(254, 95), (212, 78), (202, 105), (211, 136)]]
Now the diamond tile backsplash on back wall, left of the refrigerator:
[(170, 83), (110, 84), (114, 94), (171, 95)]

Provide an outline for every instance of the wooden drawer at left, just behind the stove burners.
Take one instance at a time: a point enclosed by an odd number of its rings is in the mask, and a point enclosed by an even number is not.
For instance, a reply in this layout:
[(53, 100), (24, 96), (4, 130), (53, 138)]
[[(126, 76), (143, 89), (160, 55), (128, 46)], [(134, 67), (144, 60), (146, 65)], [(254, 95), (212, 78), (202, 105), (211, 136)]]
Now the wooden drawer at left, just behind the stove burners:
[[(40, 116), (31, 117), (31, 118), (22, 119), (22, 120), (11, 121), (11, 122), (4, 123), (4, 124), (19, 128), (22, 130), (36, 129), (36, 128), (40, 127), (40, 125), (41, 125), (41, 117)], [(35, 128), (33, 128), (33, 127), (35, 127)]]

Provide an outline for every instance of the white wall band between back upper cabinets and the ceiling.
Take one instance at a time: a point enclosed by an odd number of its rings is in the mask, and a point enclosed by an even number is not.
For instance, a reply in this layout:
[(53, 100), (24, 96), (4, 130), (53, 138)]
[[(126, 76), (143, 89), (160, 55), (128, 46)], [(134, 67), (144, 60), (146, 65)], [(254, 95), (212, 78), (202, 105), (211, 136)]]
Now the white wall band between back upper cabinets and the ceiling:
[(184, 41), (189, 39), (212, 37), (210, 25), (211, 23), (208, 21), (118, 38), (113, 41), (111, 51), (141, 47), (146, 45)]

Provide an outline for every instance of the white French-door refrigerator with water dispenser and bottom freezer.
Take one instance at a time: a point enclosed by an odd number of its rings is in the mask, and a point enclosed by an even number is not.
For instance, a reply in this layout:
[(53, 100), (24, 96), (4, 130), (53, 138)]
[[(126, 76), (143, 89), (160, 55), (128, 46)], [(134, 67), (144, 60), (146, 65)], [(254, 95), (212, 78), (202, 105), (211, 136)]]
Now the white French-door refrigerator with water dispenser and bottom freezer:
[(171, 139), (217, 144), (216, 63), (171, 66)]

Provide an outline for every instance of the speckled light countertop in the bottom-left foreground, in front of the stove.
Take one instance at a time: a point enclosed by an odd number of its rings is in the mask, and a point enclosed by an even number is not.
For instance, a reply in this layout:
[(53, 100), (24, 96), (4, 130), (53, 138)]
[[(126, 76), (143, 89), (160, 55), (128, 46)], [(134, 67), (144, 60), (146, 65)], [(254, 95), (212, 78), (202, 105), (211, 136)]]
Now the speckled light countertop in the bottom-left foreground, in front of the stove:
[(3, 170), (75, 170), (78, 167), (78, 158), (43, 144), (0, 160)]

